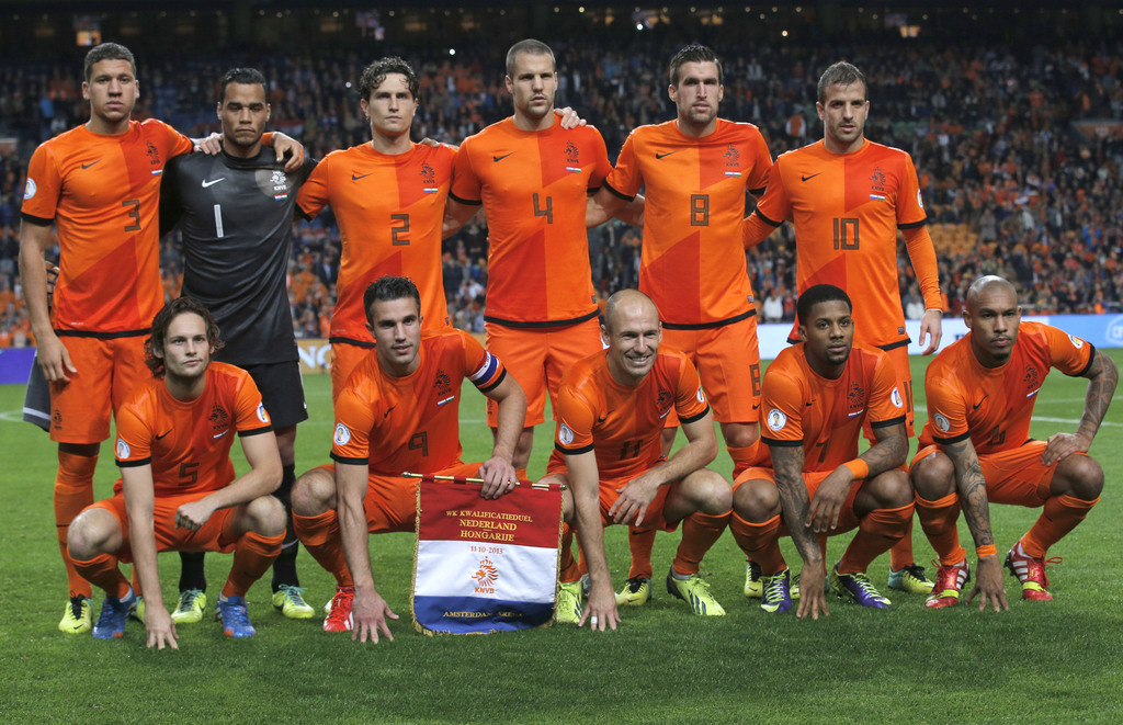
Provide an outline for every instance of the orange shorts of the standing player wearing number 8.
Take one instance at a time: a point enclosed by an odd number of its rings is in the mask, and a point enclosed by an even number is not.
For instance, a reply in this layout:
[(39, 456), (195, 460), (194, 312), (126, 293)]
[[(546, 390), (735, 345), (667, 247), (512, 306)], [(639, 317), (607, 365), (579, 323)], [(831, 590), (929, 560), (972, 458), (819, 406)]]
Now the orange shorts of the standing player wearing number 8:
[[(663, 345), (682, 350), (694, 362), (702, 387), (719, 423), (756, 423), (760, 420), (760, 350), (757, 318), (703, 330), (663, 329)], [(664, 423), (678, 425), (672, 409)]]

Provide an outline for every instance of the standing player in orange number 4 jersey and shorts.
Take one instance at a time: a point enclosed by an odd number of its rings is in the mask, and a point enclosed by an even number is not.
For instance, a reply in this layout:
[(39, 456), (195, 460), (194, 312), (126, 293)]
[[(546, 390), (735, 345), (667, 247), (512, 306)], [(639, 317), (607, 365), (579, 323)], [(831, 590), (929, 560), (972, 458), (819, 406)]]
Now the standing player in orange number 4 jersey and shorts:
[[(556, 410), (562, 375), (600, 348), (585, 200), (611, 168), (592, 126), (555, 118), (554, 53), (521, 40), (506, 54), (511, 118), (465, 139), (456, 157), (446, 236), (483, 207), (487, 219), (487, 349), (527, 392), (514, 465), (524, 475), (533, 426)], [(487, 404), (495, 430), (496, 409)]]

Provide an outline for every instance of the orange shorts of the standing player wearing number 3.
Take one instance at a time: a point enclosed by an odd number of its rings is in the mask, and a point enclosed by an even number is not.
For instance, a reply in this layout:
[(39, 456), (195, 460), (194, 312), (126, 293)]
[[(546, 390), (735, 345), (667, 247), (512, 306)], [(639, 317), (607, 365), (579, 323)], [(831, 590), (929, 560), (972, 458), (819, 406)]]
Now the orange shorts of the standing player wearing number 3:
[(61, 338), (77, 373), (67, 373), (69, 383), (51, 384), (51, 440), (100, 443), (109, 438), (110, 413), (152, 375), (144, 364), (145, 337)]

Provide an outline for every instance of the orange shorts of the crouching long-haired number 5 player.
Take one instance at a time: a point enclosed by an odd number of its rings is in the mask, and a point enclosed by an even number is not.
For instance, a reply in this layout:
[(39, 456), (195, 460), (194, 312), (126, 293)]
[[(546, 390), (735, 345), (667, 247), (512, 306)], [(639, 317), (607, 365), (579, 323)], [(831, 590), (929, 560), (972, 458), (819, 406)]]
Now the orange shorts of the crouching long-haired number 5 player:
[[(186, 494), (183, 496), (156, 496), (153, 512), (153, 532), (156, 534), (156, 551), (220, 551), (229, 553), (234, 551), (234, 545), (241, 538), (234, 529), (234, 514), (236, 507), (220, 508), (211, 514), (199, 531), (181, 529), (175, 525), (175, 512), (185, 503), (199, 501), (211, 492), (201, 494)], [(133, 561), (133, 552), (129, 549), (129, 516), (125, 508), (125, 494), (116, 494), (111, 498), (104, 498), (89, 506), (89, 508), (104, 508), (117, 516), (117, 524), (121, 527), (124, 544), (117, 552), (117, 558), (121, 561)]]

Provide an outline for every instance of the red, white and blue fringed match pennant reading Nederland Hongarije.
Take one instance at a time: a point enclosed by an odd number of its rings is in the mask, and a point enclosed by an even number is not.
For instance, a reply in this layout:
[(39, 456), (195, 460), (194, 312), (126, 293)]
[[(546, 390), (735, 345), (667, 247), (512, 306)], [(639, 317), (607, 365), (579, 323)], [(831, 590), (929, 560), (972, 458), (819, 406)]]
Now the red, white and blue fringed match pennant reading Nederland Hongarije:
[(418, 484), (413, 623), (423, 634), (490, 634), (554, 617), (562, 492), (523, 481), (496, 499), (480, 486)]

